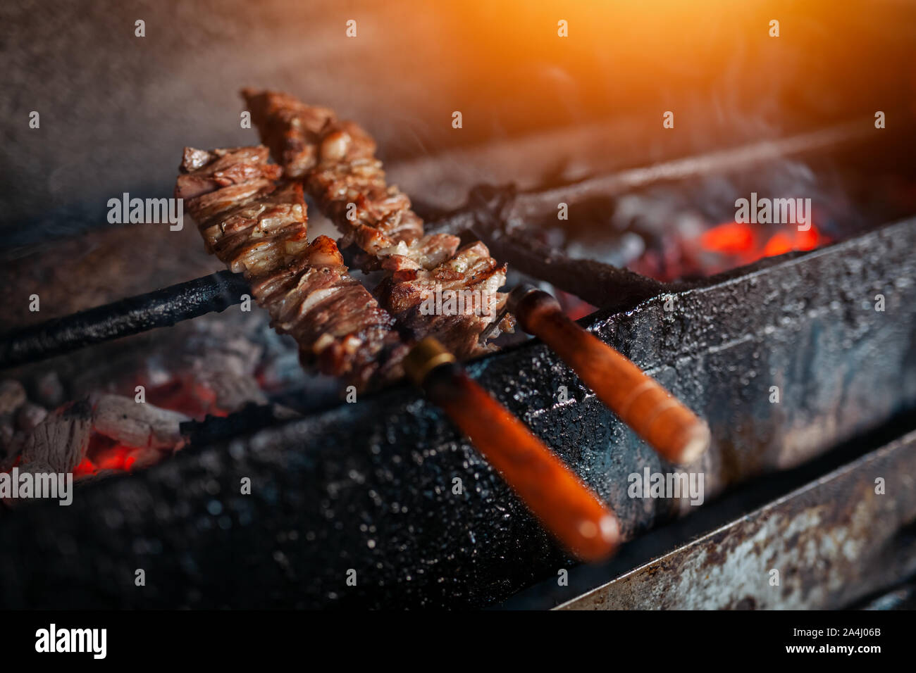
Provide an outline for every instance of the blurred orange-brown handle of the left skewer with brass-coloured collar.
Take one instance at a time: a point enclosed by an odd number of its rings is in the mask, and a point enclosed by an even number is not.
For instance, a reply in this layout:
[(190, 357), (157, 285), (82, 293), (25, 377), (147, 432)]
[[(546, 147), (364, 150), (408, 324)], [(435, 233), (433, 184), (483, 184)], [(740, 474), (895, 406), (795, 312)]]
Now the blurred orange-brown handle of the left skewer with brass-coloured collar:
[(441, 344), (420, 342), (404, 365), (563, 546), (585, 561), (614, 553), (620, 541), (614, 513)]

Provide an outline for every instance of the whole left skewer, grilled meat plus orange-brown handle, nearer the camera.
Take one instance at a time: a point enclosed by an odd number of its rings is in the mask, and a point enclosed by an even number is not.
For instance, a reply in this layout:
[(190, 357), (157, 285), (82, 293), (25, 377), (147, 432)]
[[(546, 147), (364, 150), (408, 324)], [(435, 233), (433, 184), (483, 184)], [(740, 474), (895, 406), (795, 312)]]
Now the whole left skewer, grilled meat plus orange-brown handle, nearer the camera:
[[(408, 347), (390, 329), (393, 320), (347, 275), (331, 239), (319, 236), (308, 244), (302, 186), (277, 183), (279, 170), (267, 164), (266, 147), (186, 148), (180, 170), (176, 197), (187, 202), (207, 250), (245, 274), (275, 329), (299, 342), (303, 364), (317, 361), (328, 374), (365, 381), (379, 366), (385, 369), (382, 356), (390, 349), (387, 372), (399, 373), (402, 359), (410, 364), (411, 377), (567, 548), (584, 560), (613, 553), (619, 543), (614, 513), (518, 418), (463, 374), (442, 345), (426, 339), (406, 353)], [(449, 260), (452, 279), (467, 272), (474, 277), (483, 253), (485, 248), (470, 246)], [(453, 324), (453, 331), (476, 339), (476, 332), (461, 328)]]

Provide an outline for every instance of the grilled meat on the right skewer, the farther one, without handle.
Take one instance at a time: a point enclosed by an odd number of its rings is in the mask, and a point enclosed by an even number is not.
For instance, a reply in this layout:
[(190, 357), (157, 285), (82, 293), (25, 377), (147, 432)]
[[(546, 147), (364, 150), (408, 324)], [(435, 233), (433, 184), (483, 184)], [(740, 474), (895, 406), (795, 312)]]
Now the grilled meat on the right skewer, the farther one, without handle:
[[(287, 175), (305, 189), (343, 233), (342, 244), (355, 244), (389, 275), (376, 297), (401, 329), (420, 340), (443, 342), (459, 358), (492, 350), (479, 338), (504, 306), (506, 266), (496, 263), (480, 242), (465, 245), (447, 233), (423, 234), (410, 200), (387, 186), (376, 144), (353, 122), (339, 121), (327, 108), (301, 103), (279, 92), (242, 92), (262, 140)], [(428, 313), (424, 299), (436, 292), (474, 297), (472, 309)], [(510, 330), (511, 316), (500, 328)], [(498, 330), (490, 330), (495, 337)]]

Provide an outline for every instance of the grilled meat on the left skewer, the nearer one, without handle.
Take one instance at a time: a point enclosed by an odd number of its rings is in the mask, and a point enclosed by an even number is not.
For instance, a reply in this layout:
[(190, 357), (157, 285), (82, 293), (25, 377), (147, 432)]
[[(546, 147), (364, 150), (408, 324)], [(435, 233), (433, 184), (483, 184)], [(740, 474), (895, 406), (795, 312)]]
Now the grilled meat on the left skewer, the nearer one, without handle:
[(267, 147), (186, 148), (175, 195), (207, 251), (251, 282), (271, 324), (299, 343), (300, 360), (363, 389), (399, 378), (407, 351), (394, 320), (350, 277), (327, 236), (307, 241), (298, 182), (279, 184)]

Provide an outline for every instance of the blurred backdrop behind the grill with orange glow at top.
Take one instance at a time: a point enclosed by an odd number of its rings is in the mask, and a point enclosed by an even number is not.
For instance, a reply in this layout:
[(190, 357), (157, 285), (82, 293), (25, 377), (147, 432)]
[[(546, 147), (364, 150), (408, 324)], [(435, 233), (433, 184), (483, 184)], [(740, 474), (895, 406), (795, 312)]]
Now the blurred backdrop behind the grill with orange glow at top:
[[(8, 252), (107, 225), (123, 191), (170, 195), (181, 147), (256, 142), (239, 125), (242, 86), (333, 106), (396, 170), (623, 117), (636, 126), (606, 151), (634, 165), (671, 142), (665, 110), (684, 153), (911, 108), (914, 16), (890, 0), (5, 0), (0, 240)], [(545, 173), (558, 152), (545, 143)]]

